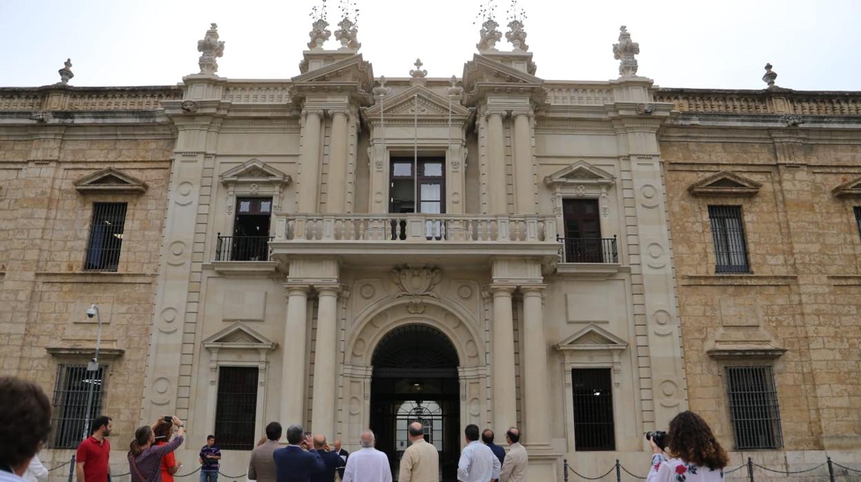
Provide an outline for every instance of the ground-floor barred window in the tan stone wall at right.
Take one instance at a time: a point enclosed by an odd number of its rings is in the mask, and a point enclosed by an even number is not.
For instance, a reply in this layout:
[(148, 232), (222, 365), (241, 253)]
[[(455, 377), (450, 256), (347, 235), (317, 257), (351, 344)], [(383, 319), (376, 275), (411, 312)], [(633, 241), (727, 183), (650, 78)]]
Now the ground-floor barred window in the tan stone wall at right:
[(780, 407), (771, 366), (727, 366), (735, 448), (781, 448)]

